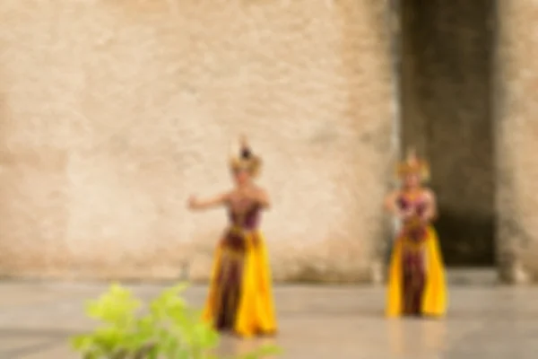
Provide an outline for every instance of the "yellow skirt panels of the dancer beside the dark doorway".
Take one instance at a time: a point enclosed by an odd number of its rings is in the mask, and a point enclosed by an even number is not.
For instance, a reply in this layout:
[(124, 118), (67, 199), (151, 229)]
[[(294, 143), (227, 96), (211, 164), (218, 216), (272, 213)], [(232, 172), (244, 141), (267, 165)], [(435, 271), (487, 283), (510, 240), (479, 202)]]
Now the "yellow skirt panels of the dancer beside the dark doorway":
[[(420, 313), (425, 316), (442, 317), (447, 311), (447, 284), (443, 258), (439, 250), (438, 236), (433, 227), (428, 227), (426, 239), (421, 243), (425, 255), (424, 284), (421, 291)], [(398, 238), (392, 254), (388, 272), (388, 290), (386, 293), (386, 315), (399, 317), (404, 315), (404, 248), (405, 238)]]

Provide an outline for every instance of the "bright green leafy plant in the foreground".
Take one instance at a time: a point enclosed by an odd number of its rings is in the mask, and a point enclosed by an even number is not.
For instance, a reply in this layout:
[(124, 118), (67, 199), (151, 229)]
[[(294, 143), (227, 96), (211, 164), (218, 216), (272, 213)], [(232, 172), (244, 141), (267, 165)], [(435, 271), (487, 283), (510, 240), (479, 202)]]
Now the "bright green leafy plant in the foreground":
[[(187, 305), (180, 284), (165, 289), (143, 308), (126, 288), (114, 284), (99, 299), (86, 304), (86, 314), (101, 325), (93, 333), (72, 338), (74, 350), (85, 359), (216, 359), (219, 334)], [(264, 346), (241, 359), (274, 355)]]

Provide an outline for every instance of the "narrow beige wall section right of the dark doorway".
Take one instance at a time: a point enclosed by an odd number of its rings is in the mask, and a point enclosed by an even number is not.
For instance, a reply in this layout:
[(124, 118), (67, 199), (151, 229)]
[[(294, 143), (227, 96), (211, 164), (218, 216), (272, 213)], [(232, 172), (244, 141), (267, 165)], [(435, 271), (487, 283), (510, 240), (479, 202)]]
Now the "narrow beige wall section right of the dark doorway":
[(496, 77), (500, 275), (538, 278), (538, 2), (499, 1)]

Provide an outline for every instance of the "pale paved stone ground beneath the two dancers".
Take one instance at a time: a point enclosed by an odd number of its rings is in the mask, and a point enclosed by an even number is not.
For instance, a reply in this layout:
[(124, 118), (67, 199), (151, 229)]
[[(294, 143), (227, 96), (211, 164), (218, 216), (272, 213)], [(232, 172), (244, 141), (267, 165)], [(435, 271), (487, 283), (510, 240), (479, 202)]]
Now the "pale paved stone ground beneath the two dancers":
[[(274, 340), (284, 348), (283, 357), (293, 359), (536, 357), (538, 288), (451, 282), (449, 315), (440, 321), (386, 320), (382, 287), (277, 286), (281, 333)], [(147, 299), (162, 288), (130, 286)], [(91, 328), (82, 315), (82, 303), (105, 287), (0, 284), (0, 359), (76, 358), (66, 338)], [(205, 290), (192, 287), (187, 297), (201, 304)], [(221, 351), (242, 352), (259, 343), (225, 338)]]

